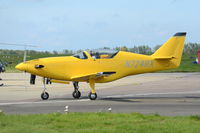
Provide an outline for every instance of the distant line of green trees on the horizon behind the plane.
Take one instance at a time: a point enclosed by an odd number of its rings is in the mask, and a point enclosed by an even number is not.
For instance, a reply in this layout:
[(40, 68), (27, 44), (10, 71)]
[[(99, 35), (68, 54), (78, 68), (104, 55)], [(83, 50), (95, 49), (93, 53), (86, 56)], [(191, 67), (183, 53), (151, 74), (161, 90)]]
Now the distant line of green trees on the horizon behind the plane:
[[(132, 48), (128, 48), (126, 46), (122, 47), (103, 47), (104, 49), (114, 49), (114, 50), (121, 50), (121, 51), (128, 51), (133, 53), (139, 53), (139, 54), (146, 54), (151, 55), (154, 53), (161, 45), (156, 45), (153, 48), (149, 47), (148, 45), (140, 45), (140, 46), (134, 46)], [(184, 47), (184, 54), (188, 55), (196, 55), (198, 50), (200, 50), (200, 43), (187, 43)], [(62, 55), (72, 55), (74, 53), (80, 52), (83, 50), (63, 50), (63, 51), (35, 51), (35, 50), (27, 50), (27, 55), (29, 56), (62, 56)], [(2, 56), (23, 56), (24, 50), (8, 50), (8, 49), (0, 49), (0, 57)]]

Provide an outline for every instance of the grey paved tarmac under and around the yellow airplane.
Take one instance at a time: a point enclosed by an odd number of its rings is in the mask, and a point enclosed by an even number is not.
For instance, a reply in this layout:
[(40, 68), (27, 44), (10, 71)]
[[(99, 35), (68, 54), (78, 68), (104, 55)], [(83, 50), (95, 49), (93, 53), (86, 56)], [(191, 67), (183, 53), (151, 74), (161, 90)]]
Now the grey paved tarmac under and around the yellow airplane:
[(82, 97), (74, 100), (73, 86), (48, 85), (50, 98), (40, 99), (42, 84), (29, 85), (29, 75), (4, 73), (0, 110), (7, 114), (65, 112), (141, 112), (161, 115), (200, 115), (200, 73), (149, 73), (97, 84), (98, 99), (91, 101), (89, 86), (80, 83)]

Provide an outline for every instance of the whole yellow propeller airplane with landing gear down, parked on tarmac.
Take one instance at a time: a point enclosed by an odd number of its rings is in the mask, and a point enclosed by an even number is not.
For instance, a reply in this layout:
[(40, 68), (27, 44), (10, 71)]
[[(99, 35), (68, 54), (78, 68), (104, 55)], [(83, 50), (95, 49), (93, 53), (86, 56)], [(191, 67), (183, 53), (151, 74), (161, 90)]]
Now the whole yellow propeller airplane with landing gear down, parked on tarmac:
[[(36, 75), (43, 77), (43, 100), (49, 98), (46, 83), (73, 82), (75, 99), (80, 98), (79, 82), (88, 82), (91, 88), (89, 98), (95, 100), (95, 83), (111, 82), (129, 75), (177, 68), (180, 65), (185, 32), (176, 33), (154, 54), (142, 55), (124, 51), (84, 51), (74, 56), (49, 57), (26, 61), (16, 69), (31, 73), (31, 84)], [(46, 82), (46, 83), (45, 83)]]

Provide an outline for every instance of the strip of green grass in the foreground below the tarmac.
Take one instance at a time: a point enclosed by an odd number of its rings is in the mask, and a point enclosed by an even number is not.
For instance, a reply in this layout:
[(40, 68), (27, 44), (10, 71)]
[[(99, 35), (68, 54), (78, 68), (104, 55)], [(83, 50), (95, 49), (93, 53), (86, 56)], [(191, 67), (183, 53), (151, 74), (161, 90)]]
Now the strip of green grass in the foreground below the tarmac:
[(199, 133), (200, 116), (140, 113), (0, 115), (0, 133)]

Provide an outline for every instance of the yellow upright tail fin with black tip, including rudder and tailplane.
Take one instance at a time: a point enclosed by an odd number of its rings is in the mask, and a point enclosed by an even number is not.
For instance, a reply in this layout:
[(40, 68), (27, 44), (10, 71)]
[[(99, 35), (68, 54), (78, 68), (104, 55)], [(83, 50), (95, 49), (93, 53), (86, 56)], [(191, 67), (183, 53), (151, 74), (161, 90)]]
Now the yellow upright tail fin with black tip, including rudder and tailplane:
[(181, 62), (186, 32), (176, 33), (164, 43), (153, 55), (156, 60), (172, 60), (175, 67)]

